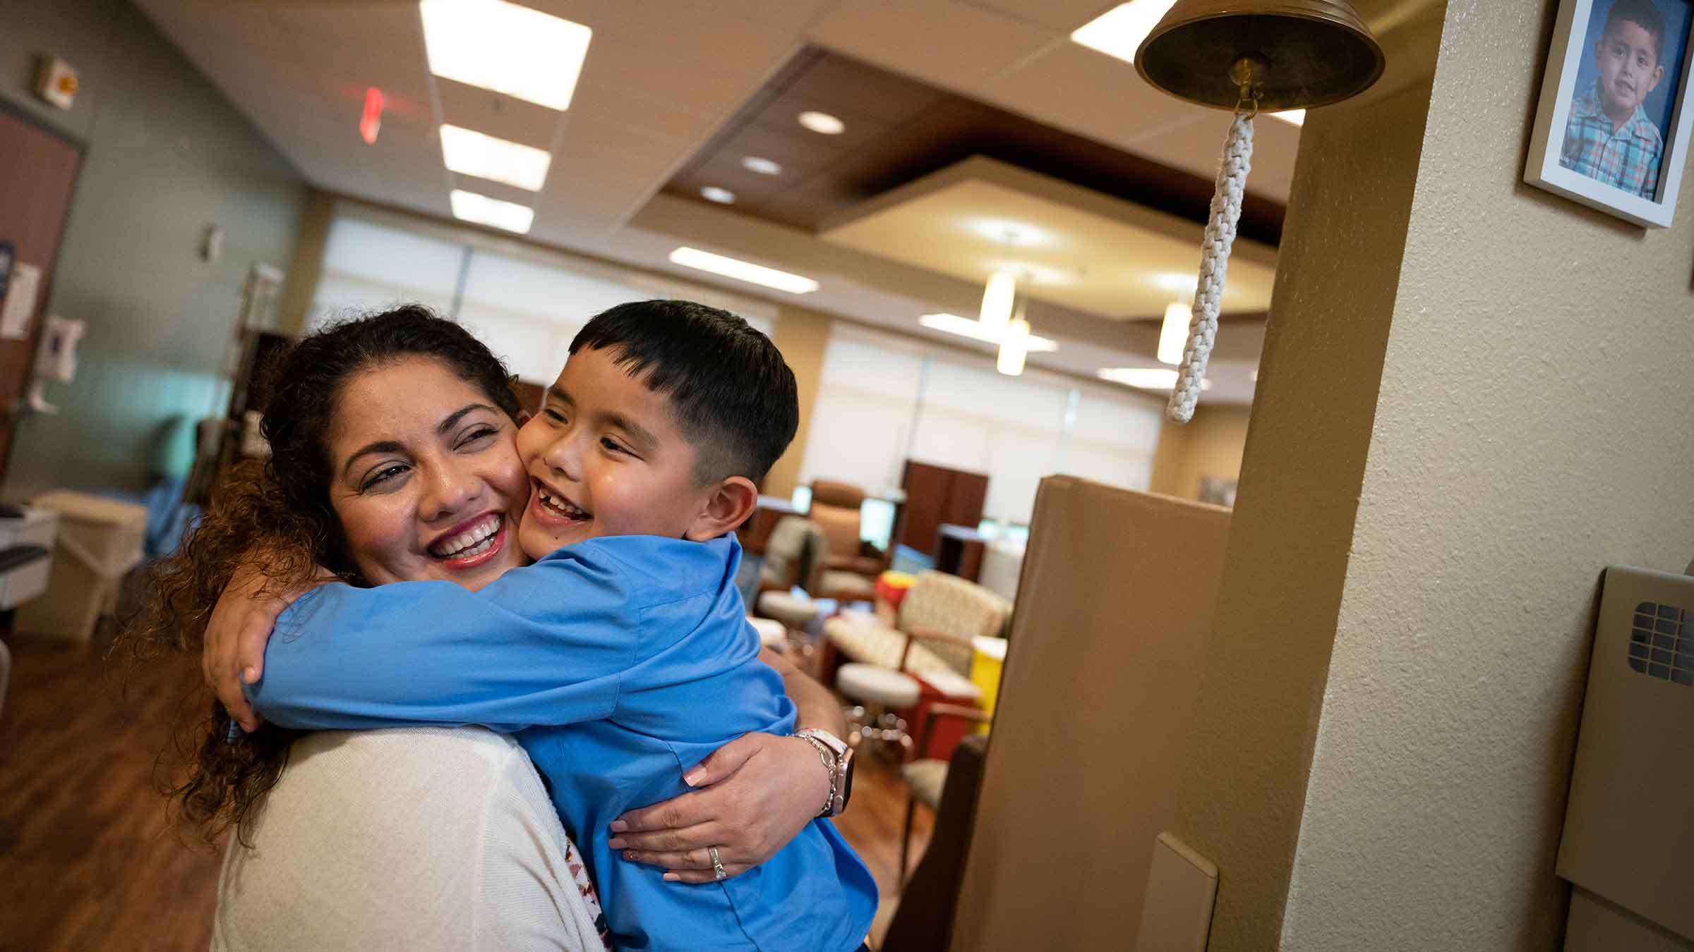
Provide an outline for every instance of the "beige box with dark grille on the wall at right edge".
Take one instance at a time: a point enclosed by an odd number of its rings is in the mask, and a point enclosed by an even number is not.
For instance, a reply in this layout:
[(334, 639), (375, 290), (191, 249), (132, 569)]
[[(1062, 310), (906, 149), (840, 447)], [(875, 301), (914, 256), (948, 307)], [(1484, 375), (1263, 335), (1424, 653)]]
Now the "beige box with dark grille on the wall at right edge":
[(1567, 952), (1694, 950), (1694, 578), (1606, 569), (1558, 876)]

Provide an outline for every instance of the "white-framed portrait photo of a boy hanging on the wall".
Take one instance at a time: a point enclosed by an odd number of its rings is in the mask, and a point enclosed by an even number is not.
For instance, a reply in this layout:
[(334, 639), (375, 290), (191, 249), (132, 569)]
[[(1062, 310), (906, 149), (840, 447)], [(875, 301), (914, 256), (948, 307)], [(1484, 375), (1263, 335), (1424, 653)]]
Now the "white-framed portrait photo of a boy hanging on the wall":
[(1560, 0), (1523, 181), (1669, 227), (1689, 147), (1694, 0)]

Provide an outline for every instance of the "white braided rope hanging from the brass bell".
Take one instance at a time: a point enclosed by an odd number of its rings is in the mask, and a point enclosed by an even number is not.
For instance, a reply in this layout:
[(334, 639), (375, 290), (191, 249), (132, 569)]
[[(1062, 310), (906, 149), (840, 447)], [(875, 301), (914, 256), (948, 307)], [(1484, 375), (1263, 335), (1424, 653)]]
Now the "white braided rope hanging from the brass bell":
[(1187, 324), (1187, 340), (1182, 344), (1182, 364), (1177, 368), (1171, 403), (1165, 405), (1165, 418), (1176, 423), (1193, 420), (1194, 405), (1199, 403), (1199, 385), (1206, 379), (1206, 361), (1211, 359), (1211, 344), (1218, 337), (1223, 278), (1230, 271), (1230, 247), (1235, 246), (1235, 224), (1242, 219), (1242, 193), (1247, 188), (1252, 161), (1254, 117), (1237, 112), (1230, 139), (1223, 144), (1218, 191), (1211, 196), (1211, 222), (1206, 224), (1206, 242), (1201, 246), (1199, 285), (1194, 288), (1194, 310)]

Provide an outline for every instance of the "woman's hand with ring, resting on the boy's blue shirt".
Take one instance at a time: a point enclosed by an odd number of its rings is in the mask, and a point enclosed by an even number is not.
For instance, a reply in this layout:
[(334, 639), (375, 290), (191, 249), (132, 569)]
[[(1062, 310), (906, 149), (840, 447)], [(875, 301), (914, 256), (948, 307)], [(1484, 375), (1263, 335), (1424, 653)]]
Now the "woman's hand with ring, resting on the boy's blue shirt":
[(632, 810), (612, 823), (610, 847), (632, 862), (666, 867), (666, 879), (711, 883), (711, 854), (730, 876), (788, 845), (830, 794), (818, 749), (801, 737), (747, 733), (711, 752), (683, 779), (693, 793)]

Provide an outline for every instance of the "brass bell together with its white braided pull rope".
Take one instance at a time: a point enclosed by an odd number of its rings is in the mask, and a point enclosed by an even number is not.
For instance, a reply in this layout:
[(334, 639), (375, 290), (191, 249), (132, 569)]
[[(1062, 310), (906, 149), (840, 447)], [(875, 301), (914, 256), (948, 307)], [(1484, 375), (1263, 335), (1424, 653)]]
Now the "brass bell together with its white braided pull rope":
[(1260, 108), (1316, 108), (1355, 97), (1384, 66), (1382, 46), (1345, 0), (1177, 0), (1135, 51), (1135, 71), (1152, 86), (1235, 113), (1165, 418), (1193, 418), (1206, 378), (1252, 164), (1254, 117)]

